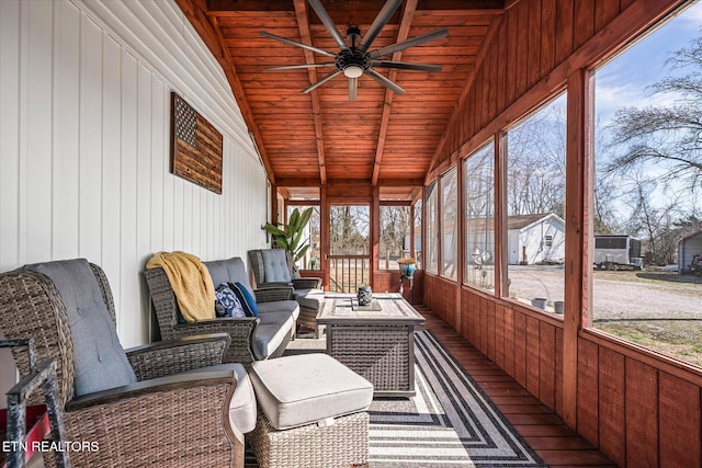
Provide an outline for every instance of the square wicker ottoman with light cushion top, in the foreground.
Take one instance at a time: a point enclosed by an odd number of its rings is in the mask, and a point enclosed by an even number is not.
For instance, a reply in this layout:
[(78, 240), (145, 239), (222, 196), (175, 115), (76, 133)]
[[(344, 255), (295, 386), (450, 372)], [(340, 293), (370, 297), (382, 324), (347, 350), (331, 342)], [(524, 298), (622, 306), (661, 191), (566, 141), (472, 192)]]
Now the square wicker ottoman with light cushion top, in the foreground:
[(364, 465), (373, 386), (326, 354), (252, 364), (259, 403), (249, 435), (261, 468)]

